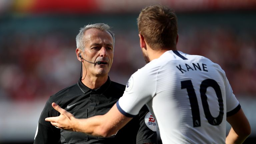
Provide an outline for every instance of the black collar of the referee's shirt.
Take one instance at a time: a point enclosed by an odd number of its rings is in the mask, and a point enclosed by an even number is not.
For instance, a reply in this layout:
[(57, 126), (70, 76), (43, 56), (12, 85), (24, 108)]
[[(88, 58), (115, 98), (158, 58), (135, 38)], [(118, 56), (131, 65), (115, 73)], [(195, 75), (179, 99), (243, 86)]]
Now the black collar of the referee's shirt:
[[(94, 89), (94, 91), (98, 94), (101, 94), (101, 93), (105, 92), (108, 89), (110, 84), (111, 84), (111, 80), (108, 76), (108, 80), (101, 87), (99, 87), (97, 89)], [(83, 82), (81, 80), (81, 77), (79, 78), (77, 85), (84, 94), (92, 90), (92, 89), (88, 88), (86, 85), (83, 84)]]

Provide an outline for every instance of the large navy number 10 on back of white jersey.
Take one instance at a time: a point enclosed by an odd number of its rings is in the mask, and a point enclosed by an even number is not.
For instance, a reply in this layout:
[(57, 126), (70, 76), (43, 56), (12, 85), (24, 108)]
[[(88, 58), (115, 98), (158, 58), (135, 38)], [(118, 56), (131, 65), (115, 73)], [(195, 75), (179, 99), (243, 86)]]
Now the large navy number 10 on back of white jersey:
[[(207, 102), (207, 96), (206, 96), (206, 91), (208, 87), (212, 87), (215, 90), (218, 98), (220, 112), (217, 117), (213, 117), (209, 109), (209, 104)], [(196, 98), (196, 93), (192, 85), (192, 81), (191, 80), (181, 81), (181, 89), (184, 89), (184, 88), (186, 88), (188, 92), (189, 102), (190, 102), (191, 111), (192, 111), (193, 127), (200, 127), (201, 121), (200, 121), (199, 106)], [(213, 79), (203, 80), (200, 85), (200, 94), (201, 94), (204, 114), (206, 119), (208, 120), (208, 123), (210, 123), (211, 125), (219, 125), (223, 120), (223, 114), (224, 114), (223, 99), (222, 99), (220, 86)]]

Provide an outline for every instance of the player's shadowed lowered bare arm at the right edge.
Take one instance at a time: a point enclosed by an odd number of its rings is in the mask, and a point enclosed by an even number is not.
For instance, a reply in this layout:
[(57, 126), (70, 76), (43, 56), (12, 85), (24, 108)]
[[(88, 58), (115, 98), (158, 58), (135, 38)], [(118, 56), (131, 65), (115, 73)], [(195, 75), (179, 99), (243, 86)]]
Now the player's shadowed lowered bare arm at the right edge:
[(226, 144), (241, 144), (251, 134), (249, 121), (242, 108), (234, 115), (227, 117), (231, 130), (226, 138)]

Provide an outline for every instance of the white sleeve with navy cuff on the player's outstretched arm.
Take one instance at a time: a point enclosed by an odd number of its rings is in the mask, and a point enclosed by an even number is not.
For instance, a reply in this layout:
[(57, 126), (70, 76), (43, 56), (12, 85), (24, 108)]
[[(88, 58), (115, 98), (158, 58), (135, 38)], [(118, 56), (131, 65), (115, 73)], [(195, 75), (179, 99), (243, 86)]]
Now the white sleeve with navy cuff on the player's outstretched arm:
[(135, 72), (128, 80), (123, 96), (117, 102), (118, 110), (127, 117), (137, 115), (156, 91), (154, 79), (154, 74), (145, 72), (145, 69)]

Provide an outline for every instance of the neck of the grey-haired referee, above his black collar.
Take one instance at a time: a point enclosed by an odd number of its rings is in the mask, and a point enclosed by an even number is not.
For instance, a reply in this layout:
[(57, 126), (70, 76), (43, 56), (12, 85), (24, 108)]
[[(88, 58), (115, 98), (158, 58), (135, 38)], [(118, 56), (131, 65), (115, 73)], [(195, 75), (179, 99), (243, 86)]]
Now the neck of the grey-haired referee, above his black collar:
[(106, 83), (107, 80), (108, 75), (100, 77), (87, 75), (85, 78), (83, 78), (82, 82), (90, 89), (97, 89), (101, 87), (104, 83)]

